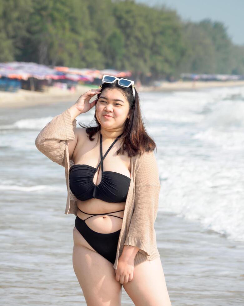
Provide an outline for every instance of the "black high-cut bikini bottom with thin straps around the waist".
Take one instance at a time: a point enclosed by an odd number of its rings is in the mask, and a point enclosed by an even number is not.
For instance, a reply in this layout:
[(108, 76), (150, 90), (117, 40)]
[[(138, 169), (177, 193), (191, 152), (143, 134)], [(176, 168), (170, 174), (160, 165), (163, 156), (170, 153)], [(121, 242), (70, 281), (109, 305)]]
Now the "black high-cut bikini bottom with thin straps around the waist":
[[(79, 209), (79, 208), (78, 208)], [(80, 210), (80, 209), (79, 209)], [(82, 211), (82, 210), (80, 210)], [(112, 211), (112, 213), (122, 211), (122, 210), (117, 210), (117, 211)], [(82, 211), (83, 212), (83, 211)], [(85, 213), (85, 212), (83, 212)], [(85, 213), (87, 214), (87, 213)], [(108, 215), (107, 214), (87, 214), (87, 215)], [(92, 217), (91, 216), (91, 217)], [(91, 218), (88, 217), (88, 218)], [(113, 216), (117, 217), (117, 216)], [(87, 218), (87, 219), (88, 219)], [(117, 217), (120, 219), (123, 219), (121, 217)], [(80, 219), (78, 216), (76, 216), (75, 219), (75, 227), (76, 229), (82, 234), (83, 238), (92, 246), (92, 248), (97, 251), (98, 254), (102, 255), (104, 258), (106, 258), (108, 261), (110, 261), (112, 264), (115, 262), (116, 258), (116, 252), (117, 252), (117, 245), (118, 245), (118, 240), (119, 240), (119, 234), (120, 230), (117, 230), (116, 232), (113, 233), (98, 233), (95, 232), (94, 230), (90, 229), (90, 227), (86, 224), (86, 220)]]

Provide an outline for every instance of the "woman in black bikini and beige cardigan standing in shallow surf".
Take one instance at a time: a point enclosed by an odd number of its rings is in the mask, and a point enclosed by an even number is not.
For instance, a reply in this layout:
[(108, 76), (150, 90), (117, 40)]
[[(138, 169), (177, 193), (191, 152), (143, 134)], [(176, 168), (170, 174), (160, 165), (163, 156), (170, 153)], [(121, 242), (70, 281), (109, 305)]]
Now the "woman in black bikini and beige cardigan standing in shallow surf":
[[(65, 214), (76, 215), (74, 272), (87, 305), (121, 305), (123, 285), (135, 305), (168, 306), (154, 230), (156, 145), (145, 131), (134, 82), (104, 75), (100, 87), (55, 116), (35, 141), (65, 167)], [(93, 106), (97, 126), (77, 128), (75, 118)]]

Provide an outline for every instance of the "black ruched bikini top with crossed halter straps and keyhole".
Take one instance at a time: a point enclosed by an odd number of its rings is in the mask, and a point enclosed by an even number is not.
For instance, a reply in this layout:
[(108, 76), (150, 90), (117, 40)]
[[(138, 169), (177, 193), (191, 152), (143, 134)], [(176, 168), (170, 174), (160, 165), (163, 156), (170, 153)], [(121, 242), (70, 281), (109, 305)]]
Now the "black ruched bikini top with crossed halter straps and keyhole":
[[(122, 135), (122, 134), (121, 134)], [(100, 158), (101, 161), (97, 168), (89, 165), (72, 165), (69, 169), (70, 190), (77, 199), (85, 201), (96, 198), (106, 202), (125, 202), (130, 186), (131, 179), (121, 173), (113, 171), (103, 171), (102, 161), (108, 151), (112, 148), (119, 135), (102, 157), (102, 134), (100, 133)], [(93, 178), (101, 164), (102, 178), (98, 185), (93, 183)]]

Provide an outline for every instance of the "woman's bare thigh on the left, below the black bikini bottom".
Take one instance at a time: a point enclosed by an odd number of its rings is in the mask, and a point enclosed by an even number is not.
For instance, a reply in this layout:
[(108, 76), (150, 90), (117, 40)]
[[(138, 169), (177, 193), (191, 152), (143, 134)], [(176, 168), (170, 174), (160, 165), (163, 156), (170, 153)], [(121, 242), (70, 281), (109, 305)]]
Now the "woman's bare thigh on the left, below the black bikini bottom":
[[(102, 255), (79, 243), (73, 230), (73, 268), (88, 306), (121, 305), (122, 285), (115, 279), (111, 262)], [(82, 235), (81, 235), (82, 237)], [(84, 239), (82, 237), (82, 239)], [(89, 245), (88, 245), (89, 246)]]

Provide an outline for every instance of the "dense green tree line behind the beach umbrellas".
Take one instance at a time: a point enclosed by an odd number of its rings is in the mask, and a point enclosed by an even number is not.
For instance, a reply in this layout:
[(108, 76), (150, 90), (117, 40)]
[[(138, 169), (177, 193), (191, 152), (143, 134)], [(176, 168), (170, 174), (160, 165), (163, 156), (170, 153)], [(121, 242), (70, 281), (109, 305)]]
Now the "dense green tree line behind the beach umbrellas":
[(134, 79), (244, 74), (222, 22), (183, 21), (134, 0), (2, 0), (0, 62), (131, 70)]

